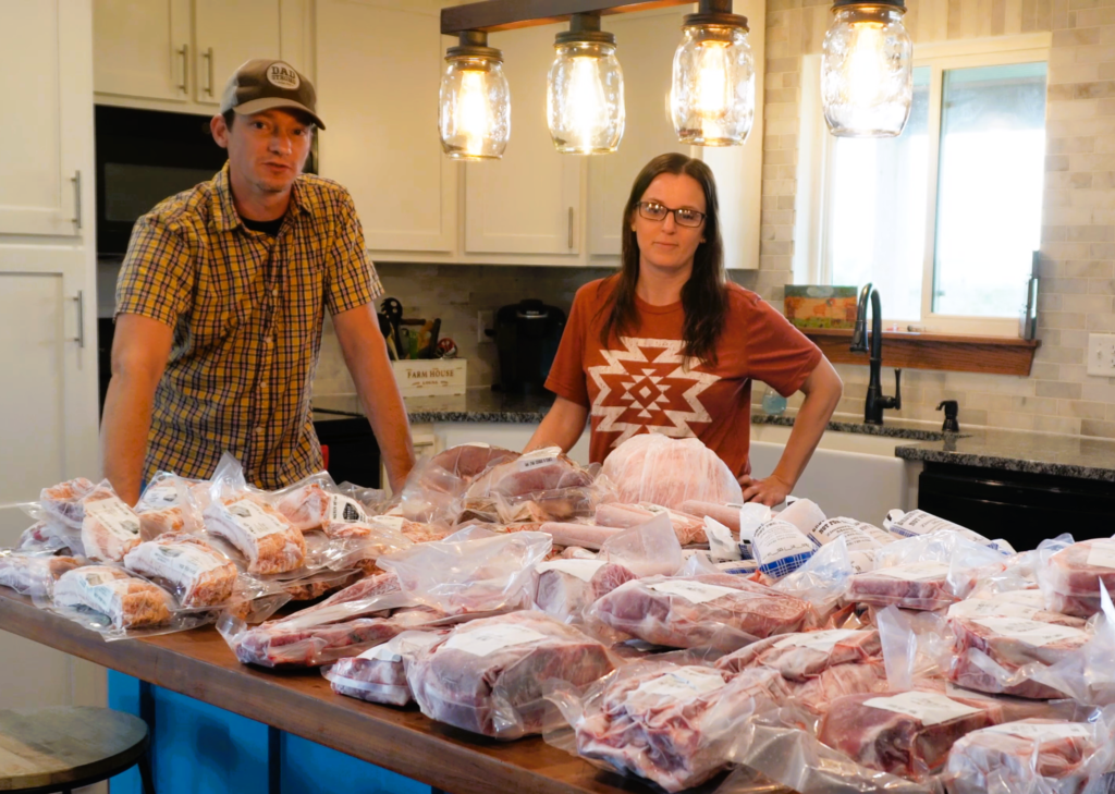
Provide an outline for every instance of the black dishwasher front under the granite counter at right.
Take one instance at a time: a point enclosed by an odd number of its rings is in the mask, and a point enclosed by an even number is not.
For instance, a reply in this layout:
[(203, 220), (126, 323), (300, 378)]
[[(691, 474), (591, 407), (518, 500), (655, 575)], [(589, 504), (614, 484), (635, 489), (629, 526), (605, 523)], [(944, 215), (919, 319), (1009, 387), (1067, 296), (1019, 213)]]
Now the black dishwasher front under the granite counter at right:
[(927, 462), (918, 506), (1024, 551), (1063, 532), (1111, 536), (1115, 483)]

